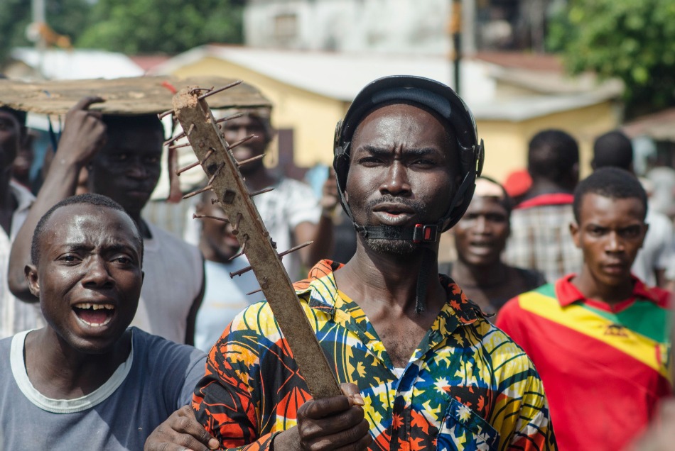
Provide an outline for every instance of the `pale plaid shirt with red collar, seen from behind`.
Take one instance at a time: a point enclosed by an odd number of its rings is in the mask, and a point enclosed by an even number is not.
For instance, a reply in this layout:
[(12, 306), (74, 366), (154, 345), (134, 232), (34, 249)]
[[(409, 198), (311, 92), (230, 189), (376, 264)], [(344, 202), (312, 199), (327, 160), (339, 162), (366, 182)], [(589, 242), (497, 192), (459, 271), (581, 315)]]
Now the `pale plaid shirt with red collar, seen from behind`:
[(543, 194), (511, 213), (511, 236), (504, 251), (509, 265), (534, 269), (546, 280), (579, 272), (583, 255), (572, 240), (571, 194)]

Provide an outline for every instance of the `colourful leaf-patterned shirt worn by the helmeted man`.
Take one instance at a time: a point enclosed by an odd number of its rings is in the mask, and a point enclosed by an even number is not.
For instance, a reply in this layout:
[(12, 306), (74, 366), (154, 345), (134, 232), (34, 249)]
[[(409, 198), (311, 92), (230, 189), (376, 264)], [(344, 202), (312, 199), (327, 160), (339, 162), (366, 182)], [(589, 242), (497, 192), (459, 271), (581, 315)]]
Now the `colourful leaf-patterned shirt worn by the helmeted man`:
[[(450, 278), (448, 303), (401, 377), (365, 313), (338, 291), (328, 260), (296, 284), (339, 382), (361, 389), (370, 450), (555, 450), (539, 375)], [(195, 389), (198, 421), (221, 446), (268, 450), (311, 399), (265, 302), (239, 313)]]

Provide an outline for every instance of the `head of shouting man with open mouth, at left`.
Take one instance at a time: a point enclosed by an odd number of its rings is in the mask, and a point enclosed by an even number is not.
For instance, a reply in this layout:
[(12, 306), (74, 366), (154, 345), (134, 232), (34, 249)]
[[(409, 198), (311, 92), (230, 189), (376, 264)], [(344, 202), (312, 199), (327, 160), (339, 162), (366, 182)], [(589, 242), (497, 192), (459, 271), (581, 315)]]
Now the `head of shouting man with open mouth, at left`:
[(136, 313), (141, 238), (126, 213), (90, 204), (54, 211), (26, 267), (31, 292), (60, 340), (80, 352), (112, 349)]

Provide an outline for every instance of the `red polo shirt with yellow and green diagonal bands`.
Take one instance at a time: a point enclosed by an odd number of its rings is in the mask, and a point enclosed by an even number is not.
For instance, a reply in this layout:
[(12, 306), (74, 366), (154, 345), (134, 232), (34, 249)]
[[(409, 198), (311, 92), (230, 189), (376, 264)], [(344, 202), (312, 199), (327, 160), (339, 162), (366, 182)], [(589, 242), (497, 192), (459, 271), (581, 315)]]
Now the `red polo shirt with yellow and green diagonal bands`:
[(621, 450), (671, 394), (669, 293), (635, 279), (630, 298), (610, 306), (572, 277), (507, 302), (497, 327), (541, 374), (561, 450)]

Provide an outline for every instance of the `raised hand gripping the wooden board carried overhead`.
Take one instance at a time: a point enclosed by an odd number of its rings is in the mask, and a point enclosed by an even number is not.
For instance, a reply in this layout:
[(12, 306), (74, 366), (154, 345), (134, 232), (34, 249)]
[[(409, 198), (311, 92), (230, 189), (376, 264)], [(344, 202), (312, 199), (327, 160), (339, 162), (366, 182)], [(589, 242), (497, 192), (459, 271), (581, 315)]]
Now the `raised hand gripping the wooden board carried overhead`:
[(105, 101), (101, 97), (85, 97), (70, 108), (59, 140), (54, 163), (87, 165), (105, 144), (105, 124), (100, 111), (90, 111), (92, 104)]

